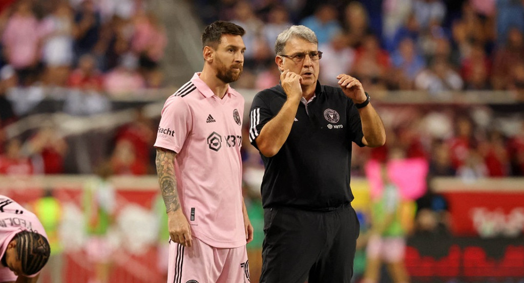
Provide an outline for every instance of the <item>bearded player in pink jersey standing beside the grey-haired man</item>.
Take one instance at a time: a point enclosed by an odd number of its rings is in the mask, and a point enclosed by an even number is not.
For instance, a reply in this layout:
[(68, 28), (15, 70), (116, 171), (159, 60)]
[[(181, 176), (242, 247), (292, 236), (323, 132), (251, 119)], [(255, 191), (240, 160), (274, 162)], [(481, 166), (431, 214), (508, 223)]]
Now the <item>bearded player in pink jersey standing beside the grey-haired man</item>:
[(249, 281), (253, 226), (242, 197), (245, 30), (215, 21), (202, 34), (204, 66), (171, 95), (158, 127), (156, 166), (168, 215), (168, 282)]

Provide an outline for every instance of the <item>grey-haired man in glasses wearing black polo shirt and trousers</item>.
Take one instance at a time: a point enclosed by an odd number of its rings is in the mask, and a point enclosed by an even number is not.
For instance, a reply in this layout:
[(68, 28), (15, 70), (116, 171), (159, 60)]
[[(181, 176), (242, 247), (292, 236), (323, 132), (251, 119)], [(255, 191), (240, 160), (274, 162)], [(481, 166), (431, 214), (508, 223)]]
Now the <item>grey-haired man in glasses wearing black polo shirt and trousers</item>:
[(292, 26), (277, 38), (280, 84), (250, 110), (249, 140), (265, 166), (261, 283), (350, 282), (359, 223), (351, 207), (351, 146), (386, 141), (384, 125), (356, 78), (318, 82), (315, 33)]

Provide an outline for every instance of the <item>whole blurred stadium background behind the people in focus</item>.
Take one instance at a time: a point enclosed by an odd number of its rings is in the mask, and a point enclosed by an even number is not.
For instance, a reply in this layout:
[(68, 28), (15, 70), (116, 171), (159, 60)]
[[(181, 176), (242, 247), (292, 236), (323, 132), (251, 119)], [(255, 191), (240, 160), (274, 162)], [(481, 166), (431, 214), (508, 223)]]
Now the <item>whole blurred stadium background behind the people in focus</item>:
[[(2, 0), (0, 194), (47, 230), (40, 282), (165, 282), (152, 144), (165, 99), (202, 70), (200, 35), (217, 19), (247, 31), (232, 84), (246, 109), (278, 83), (273, 46), (292, 24), (316, 32), (323, 84), (348, 73), (372, 96), (387, 142), (353, 151), (355, 282), (367, 240), (391, 224), (373, 215), (391, 207), (410, 281), (524, 282), (524, 1)], [(243, 141), (258, 282), (263, 165)], [(399, 197), (384, 197), (390, 184)]]

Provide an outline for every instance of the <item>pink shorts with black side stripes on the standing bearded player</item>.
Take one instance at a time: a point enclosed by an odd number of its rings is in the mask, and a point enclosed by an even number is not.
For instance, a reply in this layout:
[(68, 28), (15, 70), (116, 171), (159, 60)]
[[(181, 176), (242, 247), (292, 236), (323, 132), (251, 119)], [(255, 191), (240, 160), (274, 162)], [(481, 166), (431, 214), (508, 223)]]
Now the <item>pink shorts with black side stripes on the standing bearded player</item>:
[(192, 247), (169, 241), (168, 283), (249, 282), (246, 246), (212, 247), (193, 237)]

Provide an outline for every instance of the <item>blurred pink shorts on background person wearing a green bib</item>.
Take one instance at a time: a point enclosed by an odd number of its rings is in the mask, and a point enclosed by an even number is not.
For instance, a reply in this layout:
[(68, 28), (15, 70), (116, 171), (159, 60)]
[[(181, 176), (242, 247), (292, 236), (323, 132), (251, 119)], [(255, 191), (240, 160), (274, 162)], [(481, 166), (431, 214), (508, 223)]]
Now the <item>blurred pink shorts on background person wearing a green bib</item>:
[(406, 240), (403, 237), (369, 237), (366, 256), (380, 258), (388, 263), (400, 262), (406, 253)]

